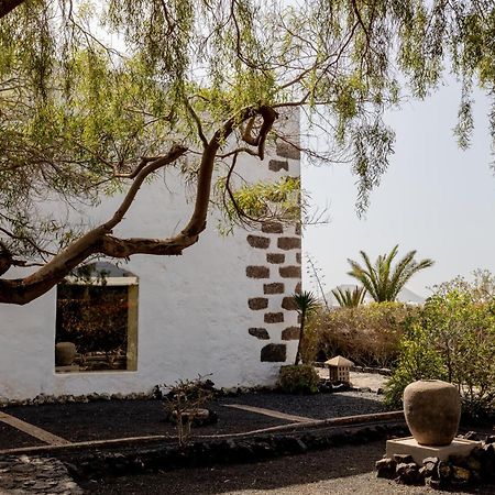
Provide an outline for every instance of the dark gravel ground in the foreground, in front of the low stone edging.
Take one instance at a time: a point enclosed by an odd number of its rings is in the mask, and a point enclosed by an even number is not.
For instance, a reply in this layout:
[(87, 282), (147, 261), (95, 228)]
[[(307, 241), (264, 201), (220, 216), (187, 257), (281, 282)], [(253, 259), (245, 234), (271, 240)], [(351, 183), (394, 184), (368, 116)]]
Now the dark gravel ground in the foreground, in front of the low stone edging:
[[(385, 452), (385, 442), (348, 446), (275, 459), (268, 462), (209, 469), (177, 470), (86, 482), (82, 486), (99, 495), (416, 495), (439, 493), (402, 486), (375, 477), (374, 464)], [(458, 494), (495, 494), (484, 486)]]

